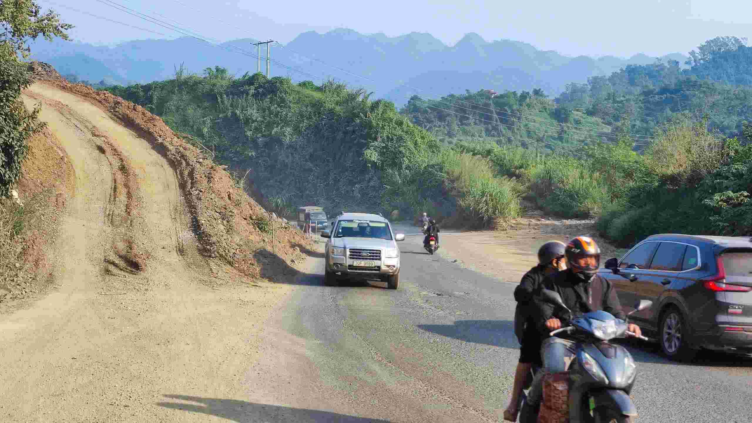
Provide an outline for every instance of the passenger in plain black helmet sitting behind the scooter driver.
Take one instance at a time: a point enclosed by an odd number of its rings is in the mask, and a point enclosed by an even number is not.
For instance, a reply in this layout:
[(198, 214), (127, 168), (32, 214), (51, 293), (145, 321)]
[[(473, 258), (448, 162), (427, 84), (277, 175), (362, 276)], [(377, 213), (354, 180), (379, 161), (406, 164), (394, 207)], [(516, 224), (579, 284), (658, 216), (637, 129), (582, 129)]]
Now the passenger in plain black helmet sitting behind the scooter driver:
[(533, 293), (541, 285), (547, 275), (566, 269), (564, 250), (566, 245), (560, 241), (549, 241), (538, 248), (538, 266), (530, 269), (520, 280), (520, 285), (514, 288), (514, 300), (517, 309), (514, 311), (514, 333), (520, 341), (520, 361), (514, 373), (514, 388), (509, 406), (504, 410), (506, 421), (517, 421), (517, 411), (520, 406), (520, 395), (523, 384), (530, 372), (530, 368), (542, 367), (541, 363), (541, 334), (535, 327), (535, 321), (529, 315), (532, 309)]

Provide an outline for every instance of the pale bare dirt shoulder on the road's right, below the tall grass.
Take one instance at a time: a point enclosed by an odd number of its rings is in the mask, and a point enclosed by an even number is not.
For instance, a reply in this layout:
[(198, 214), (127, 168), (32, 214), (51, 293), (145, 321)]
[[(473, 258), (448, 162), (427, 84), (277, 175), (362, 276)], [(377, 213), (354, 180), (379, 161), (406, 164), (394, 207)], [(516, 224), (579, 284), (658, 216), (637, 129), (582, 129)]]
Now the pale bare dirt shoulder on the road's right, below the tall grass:
[(508, 230), (441, 233), (438, 254), (456, 264), (501, 281), (520, 283), (520, 278), (538, 264), (538, 248), (548, 241), (568, 242), (575, 236), (590, 236), (598, 242), (602, 262), (626, 252), (602, 239), (594, 220), (548, 218), (538, 211), (526, 212)]

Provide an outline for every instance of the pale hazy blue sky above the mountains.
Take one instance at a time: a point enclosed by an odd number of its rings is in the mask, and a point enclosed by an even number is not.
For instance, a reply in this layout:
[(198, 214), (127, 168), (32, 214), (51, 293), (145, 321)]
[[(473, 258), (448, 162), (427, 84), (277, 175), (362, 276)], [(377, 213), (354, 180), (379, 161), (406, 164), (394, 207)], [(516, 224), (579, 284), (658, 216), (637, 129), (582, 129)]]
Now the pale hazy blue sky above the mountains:
[[(65, 22), (76, 25), (71, 35), (80, 41), (108, 44), (178, 35), (103, 4), (106, 0), (39, 1), (41, 5), (59, 11)], [(556, 50), (569, 56), (687, 53), (697, 44), (717, 35), (747, 36), (752, 24), (750, 0), (112, 2), (159, 20), (168, 21), (169, 18), (182, 24), (183, 28), (190, 27), (218, 41), (252, 37), (287, 43), (300, 32), (326, 32), (346, 27), (363, 33), (384, 32), (389, 36), (429, 32), (451, 45), (465, 33), (477, 32), (487, 41), (502, 38), (525, 41), (539, 49)], [(162, 32), (169, 37), (111, 23), (62, 5)], [(174, 21), (168, 22), (174, 24)]]

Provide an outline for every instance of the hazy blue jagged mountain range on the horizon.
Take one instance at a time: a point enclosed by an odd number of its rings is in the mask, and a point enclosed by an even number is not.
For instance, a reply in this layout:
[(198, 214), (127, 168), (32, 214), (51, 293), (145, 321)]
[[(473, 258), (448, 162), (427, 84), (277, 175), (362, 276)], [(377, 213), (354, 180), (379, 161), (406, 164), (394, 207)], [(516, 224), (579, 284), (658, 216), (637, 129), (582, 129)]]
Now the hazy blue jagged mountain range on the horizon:
[[(206, 44), (196, 38), (138, 40), (115, 47), (41, 38), (32, 43), (32, 58), (48, 62), (62, 75), (108, 84), (135, 84), (174, 78), (184, 62), (189, 72), (220, 65), (236, 75), (256, 72), (256, 40), (238, 39)], [(265, 47), (262, 47), (265, 56)], [(687, 56), (672, 53), (664, 61)], [(365, 87), (374, 98), (385, 97), (402, 105), (413, 94), (424, 97), (465, 93), (465, 90), (532, 90), (542, 88), (556, 96), (566, 84), (584, 83), (594, 75), (610, 75), (625, 65), (646, 65), (655, 57), (637, 54), (629, 59), (603, 56), (567, 57), (553, 50), (542, 51), (520, 41), (485, 41), (469, 33), (447, 46), (427, 33), (411, 32), (399, 37), (364, 35), (350, 29), (326, 34), (304, 32), (284, 47), (273, 44), (271, 75), (290, 76), (295, 81), (325, 78)], [(290, 68), (302, 72), (290, 70)], [(265, 72), (265, 59), (262, 59)]]

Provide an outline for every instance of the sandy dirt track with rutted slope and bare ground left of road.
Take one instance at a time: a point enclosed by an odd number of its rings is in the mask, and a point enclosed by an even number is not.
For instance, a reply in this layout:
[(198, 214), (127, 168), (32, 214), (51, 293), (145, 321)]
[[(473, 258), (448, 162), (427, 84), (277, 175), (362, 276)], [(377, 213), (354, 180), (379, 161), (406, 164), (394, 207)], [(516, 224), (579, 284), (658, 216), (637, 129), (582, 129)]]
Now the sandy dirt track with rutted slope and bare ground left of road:
[[(47, 166), (38, 184), (58, 186), (45, 220), (56, 236), (39, 247), (53, 289), (0, 303), (0, 415), (205, 421), (160, 402), (244, 399), (244, 369), (264, 359), (260, 330), (313, 272), (315, 247), (278, 220), (272, 239), (271, 222), (257, 224), (265, 211), (158, 118), (56, 81), (23, 92), (59, 141), (26, 166)], [(24, 201), (33, 191), (19, 189)]]

